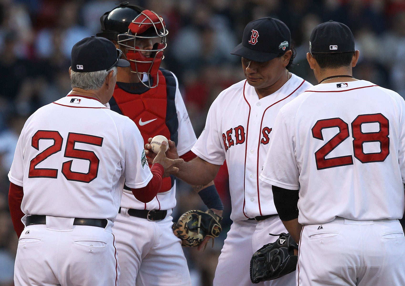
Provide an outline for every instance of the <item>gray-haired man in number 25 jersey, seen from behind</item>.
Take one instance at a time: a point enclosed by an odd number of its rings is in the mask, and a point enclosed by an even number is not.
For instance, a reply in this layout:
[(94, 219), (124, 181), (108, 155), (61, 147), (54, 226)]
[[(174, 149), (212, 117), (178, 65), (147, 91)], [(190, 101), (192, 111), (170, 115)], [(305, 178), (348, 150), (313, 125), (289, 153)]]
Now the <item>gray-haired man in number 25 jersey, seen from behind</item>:
[(76, 43), (72, 92), (38, 109), (21, 131), (9, 172), (10, 210), (20, 236), (17, 286), (117, 286), (111, 227), (124, 181), (146, 203), (178, 163), (161, 147), (149, 169), (136, 125), (105, 106), (117, 66), (129, 66), (120, 57), (104, 38)]

